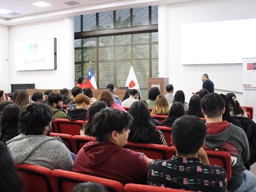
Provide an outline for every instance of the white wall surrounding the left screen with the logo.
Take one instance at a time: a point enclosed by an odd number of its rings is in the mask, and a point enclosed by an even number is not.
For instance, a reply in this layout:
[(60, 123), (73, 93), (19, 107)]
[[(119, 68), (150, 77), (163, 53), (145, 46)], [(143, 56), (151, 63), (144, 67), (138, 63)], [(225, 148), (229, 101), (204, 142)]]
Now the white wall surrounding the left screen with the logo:
[[(15, 71), (15, 42), (46, 37), (57, 38), (57, 70)], [(35, 83), (35, 88), (38, 89), (74, 86), (73, 17), (9, 26), (8, 45), (10, 84)]]

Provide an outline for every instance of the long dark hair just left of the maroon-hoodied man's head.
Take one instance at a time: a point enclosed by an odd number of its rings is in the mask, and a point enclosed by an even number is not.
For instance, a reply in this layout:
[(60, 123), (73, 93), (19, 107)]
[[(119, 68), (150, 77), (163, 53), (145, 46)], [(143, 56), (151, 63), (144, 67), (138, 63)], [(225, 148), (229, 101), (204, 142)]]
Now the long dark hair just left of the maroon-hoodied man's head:
[(107, 104), (103, 101), (97, 101), (94, 102), (90, 108), (88, 109), (89, 112), (89, 116), (88, 116), (88, 122), (86, 125), (83, 126), (83, 129), (85, 130), (84, 133), (86, 135), (89, 136), (93, 136), (93, 125), (92, 125), (92, 120), (93, 120), (93, 116), (95, 115), (95, 113), (98, 113), (100, 111), (100, 109), (104, 109), (107, 108)]

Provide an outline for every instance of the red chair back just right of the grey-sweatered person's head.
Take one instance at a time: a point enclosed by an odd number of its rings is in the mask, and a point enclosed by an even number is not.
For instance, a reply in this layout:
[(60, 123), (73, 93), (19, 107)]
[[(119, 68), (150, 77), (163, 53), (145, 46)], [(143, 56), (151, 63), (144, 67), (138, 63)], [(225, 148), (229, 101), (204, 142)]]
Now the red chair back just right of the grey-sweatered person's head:
[(87, 121), (72, 121), (65, 118), (56, 118), (53, 121), (55, 132), (71, 135), (79, 135), (84, 124), (87, 124)]

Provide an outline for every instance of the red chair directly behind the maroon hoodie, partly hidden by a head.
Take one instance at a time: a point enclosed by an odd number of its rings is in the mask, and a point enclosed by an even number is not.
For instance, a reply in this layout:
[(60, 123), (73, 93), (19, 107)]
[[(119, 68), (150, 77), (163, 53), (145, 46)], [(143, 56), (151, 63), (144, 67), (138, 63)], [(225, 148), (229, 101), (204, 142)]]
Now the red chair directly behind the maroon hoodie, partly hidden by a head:
[(104, 179), (64, 170), (54, 170), (52, 172), (52, 176), (54, 177), (56, 188), (58, 188), (59, 192), (70, 192), (72, 188), (74, 188), (74, 186), (79, 182), (98, 182), (106, 186), (108, 191), (124, 191), (124, 186), (116, 180)]

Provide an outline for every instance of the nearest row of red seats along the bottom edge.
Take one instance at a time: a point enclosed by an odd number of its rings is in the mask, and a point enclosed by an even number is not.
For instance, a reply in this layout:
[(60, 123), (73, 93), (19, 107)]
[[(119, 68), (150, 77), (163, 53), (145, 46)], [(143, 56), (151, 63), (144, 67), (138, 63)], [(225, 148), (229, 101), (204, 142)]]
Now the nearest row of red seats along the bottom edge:
[(126, 184), (123, 186), (116, 180), (104, 179), (91, 175), (65, 170), (50, 170), (33, 164), (15, 165), (26, 192), (70, 192), (79, 182), (98, 182), (113, 192), (182, 192), (179, 189), (159, 188), (141, 184)]

